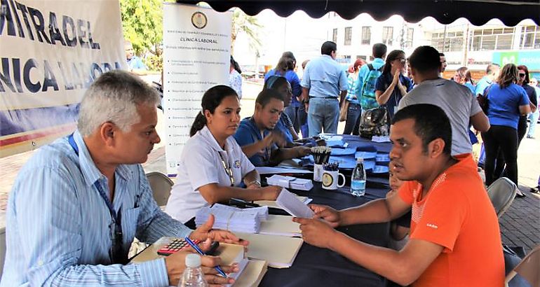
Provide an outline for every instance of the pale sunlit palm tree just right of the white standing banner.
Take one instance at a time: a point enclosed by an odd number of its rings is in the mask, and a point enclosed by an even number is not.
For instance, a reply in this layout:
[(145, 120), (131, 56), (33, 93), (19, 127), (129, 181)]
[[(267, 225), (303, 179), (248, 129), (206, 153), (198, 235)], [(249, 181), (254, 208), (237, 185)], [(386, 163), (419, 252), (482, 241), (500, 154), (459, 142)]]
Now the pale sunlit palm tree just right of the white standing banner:
[(248, 36), (248, 43), (252, 50), (258, 54), (261, 48), (259, 29), (263, 26), (257, 21), (257, 17), (246, 15), (243, 10), (233, 8), (233, 19), (231, 27), (231, 55), (234, 54), (234, 42), (238, 32), (244, 32)]

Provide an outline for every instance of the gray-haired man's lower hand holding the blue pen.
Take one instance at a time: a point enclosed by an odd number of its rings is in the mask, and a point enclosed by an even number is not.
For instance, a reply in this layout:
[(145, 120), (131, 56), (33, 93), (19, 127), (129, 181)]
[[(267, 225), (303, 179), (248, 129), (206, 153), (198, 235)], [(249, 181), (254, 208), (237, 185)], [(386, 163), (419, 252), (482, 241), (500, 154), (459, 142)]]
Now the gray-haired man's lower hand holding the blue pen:
[[(178, 286), (180, 277), (186, 269), (186, 256), (188, 254), (194, 253), (193, 249), (188, 251), (178, 251), (173, 253), (165, 258), (165, 265), (167, 268), (167, 274), (169, 276), (169, 284), (172, 286)], [(214, 268), (216, 265), (220, 265), (221, 259), (215, 256), (201, 256), (201, 269), (205, 274), (205, 279), (212, 285), (223, 285), (223, 284), (232, 284), (234, 279), (224, 278), (221, 275), (217, 274), (217, 270)], [(238, 265), (222, 265), (221, 266), (225, 273), (238, 272)]]

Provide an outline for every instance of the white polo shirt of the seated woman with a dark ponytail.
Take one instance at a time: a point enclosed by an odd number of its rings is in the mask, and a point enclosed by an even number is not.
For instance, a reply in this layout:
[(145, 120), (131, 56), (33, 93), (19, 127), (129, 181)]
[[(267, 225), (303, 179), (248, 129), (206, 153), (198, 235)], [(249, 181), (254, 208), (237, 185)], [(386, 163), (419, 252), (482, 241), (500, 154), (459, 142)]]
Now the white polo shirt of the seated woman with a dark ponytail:
[(234, 137), (227, 139), (223, 150), (208, 127), (203, 127), (184, 146), (176, 184), (170, 192), (165, 209), (167, 214), (185, 223), (195, 216), (198, 209), (210, 205), (198, 192), (198, 188), (210, 183), (231, 186), (231, 179), (223, 167), (220, 154), (225, 164), (231, 167), (234, 186), (239, 186), (245, 174), (255, 169)]

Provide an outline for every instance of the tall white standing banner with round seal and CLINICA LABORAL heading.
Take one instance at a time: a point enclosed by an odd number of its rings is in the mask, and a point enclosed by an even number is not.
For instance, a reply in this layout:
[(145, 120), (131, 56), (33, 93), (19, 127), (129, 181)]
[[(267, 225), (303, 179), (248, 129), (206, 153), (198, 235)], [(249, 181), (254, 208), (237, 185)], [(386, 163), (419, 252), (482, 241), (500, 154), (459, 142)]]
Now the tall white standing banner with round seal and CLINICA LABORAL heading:
[(229, 84), (231, 20), (231, 12), (163, 3), (163, 109), (170, 176), (177, 173), (204, 92)]

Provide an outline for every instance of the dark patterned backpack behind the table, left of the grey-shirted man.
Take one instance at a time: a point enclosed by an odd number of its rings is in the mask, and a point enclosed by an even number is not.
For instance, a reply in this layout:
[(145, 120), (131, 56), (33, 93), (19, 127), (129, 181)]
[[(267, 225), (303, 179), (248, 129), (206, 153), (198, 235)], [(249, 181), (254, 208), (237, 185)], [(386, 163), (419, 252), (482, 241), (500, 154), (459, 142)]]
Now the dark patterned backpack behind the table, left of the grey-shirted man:
[(386, 106), (379, 106), (365, 111), (360, 118), (360, 137), (371, 139), (373, 136), (389, 135), (389, 114)]

